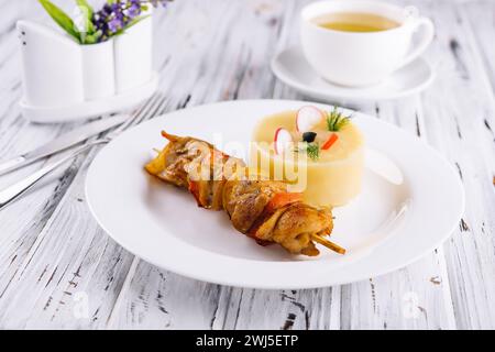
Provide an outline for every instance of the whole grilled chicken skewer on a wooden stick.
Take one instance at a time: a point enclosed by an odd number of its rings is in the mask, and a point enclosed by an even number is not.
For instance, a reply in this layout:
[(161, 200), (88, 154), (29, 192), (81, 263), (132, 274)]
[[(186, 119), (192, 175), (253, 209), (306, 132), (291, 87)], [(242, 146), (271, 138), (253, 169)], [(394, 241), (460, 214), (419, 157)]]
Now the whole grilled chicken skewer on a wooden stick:
[(229, 156), (208, 142), (162, 132), (168, 144), (145, 169), (187, 188), (199, 207), (226, 210), (233, 227), (258, 244), (278, 243), (293, 254), (319, 254), (315, 242), (343, 254), (324, 239), (333, 228), (328, 208), (315, 208), (302, 195), (289, 193), (283, 182), (245, 177), (242, 160)]

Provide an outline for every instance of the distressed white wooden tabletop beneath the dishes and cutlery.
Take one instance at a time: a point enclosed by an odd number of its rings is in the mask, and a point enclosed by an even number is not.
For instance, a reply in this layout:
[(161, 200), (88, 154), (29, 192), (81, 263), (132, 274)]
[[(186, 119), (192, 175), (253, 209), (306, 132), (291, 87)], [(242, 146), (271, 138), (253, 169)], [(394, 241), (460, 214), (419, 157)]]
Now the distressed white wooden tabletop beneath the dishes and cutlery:
[[(306, 2), (177, 0), (157, 12), (163, 112), (227, 99), (304, 99), (277, 81), (270, 61), (298, 42)], [(14, 23), (48, 22), (33, 3), (0, 0), (0, 160), (78, 125), (34, 125), (20, 114)], [(495, 3), (409, 3), (436, 22), (427, 54), (436, 82), (417, 96), (351, 108), (417, 134), (458, 168), (466, 210), (441, 248), (392, 274), (321, 289), (185, 278), (136, 258), (91, 218), (84, 183), (94, 150), (0, 211), (0, 328), (495, 328)], [(0, 187), (46, 162), (1, 176)]]

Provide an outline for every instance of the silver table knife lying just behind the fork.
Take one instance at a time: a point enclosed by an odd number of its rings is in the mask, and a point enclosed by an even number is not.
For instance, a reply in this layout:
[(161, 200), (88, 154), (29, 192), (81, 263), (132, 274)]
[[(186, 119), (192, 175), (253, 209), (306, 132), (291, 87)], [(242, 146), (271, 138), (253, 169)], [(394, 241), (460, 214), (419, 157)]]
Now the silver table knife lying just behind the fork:
[(82, 142), (90, 138), (91, 135), (101, 133), (111, 129), (118, 124), (124, 122), (130, 116), (129, 114), (118, 114), (111, 118), (105, 118), (95, 122), (85, 124), (84, 127), (73, 130), (59, 138), (48, 142), (31, 152), (15, 156), (9, 161), (0, 162), (0, 175), (7, 174), (13, 169), (21, 166), (31, 164), (42, 157), (52, 155), (54, 153), (62, 152), (69, 146), (73, 146), (79, 142)]

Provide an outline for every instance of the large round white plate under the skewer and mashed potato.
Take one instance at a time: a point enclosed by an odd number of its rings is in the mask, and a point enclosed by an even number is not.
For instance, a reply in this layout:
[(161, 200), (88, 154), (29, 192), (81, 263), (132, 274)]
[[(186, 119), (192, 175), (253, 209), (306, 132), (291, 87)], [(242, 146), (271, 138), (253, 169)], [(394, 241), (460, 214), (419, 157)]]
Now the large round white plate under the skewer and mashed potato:
[(320, 256), (309, 258), (277, 245), (260, 246), (237, 232), (224, 212), (198, 208), (187, 191), (143, 170), (152, 148), (165, 144), (163, 129), (220, 148), (231, 141), (246, 145), (258, 119), (305, 105), (227, 101), (175, 111), (123, 133), (88, 170), (86, 195), (92, 215), (117, 242), (150, 263), (201, 280), (257, 288), (364, 279), (405, 266), (448, 238), (464, 207), (458, 174), (415, 136), (362, 113), (354, 113), (354, 122), (372, 151), (367, 163), (393, 182), (367, 170), (363, 193), (336, 209), (332, 239), (348, 249), (343, 256), (324, 248)]

